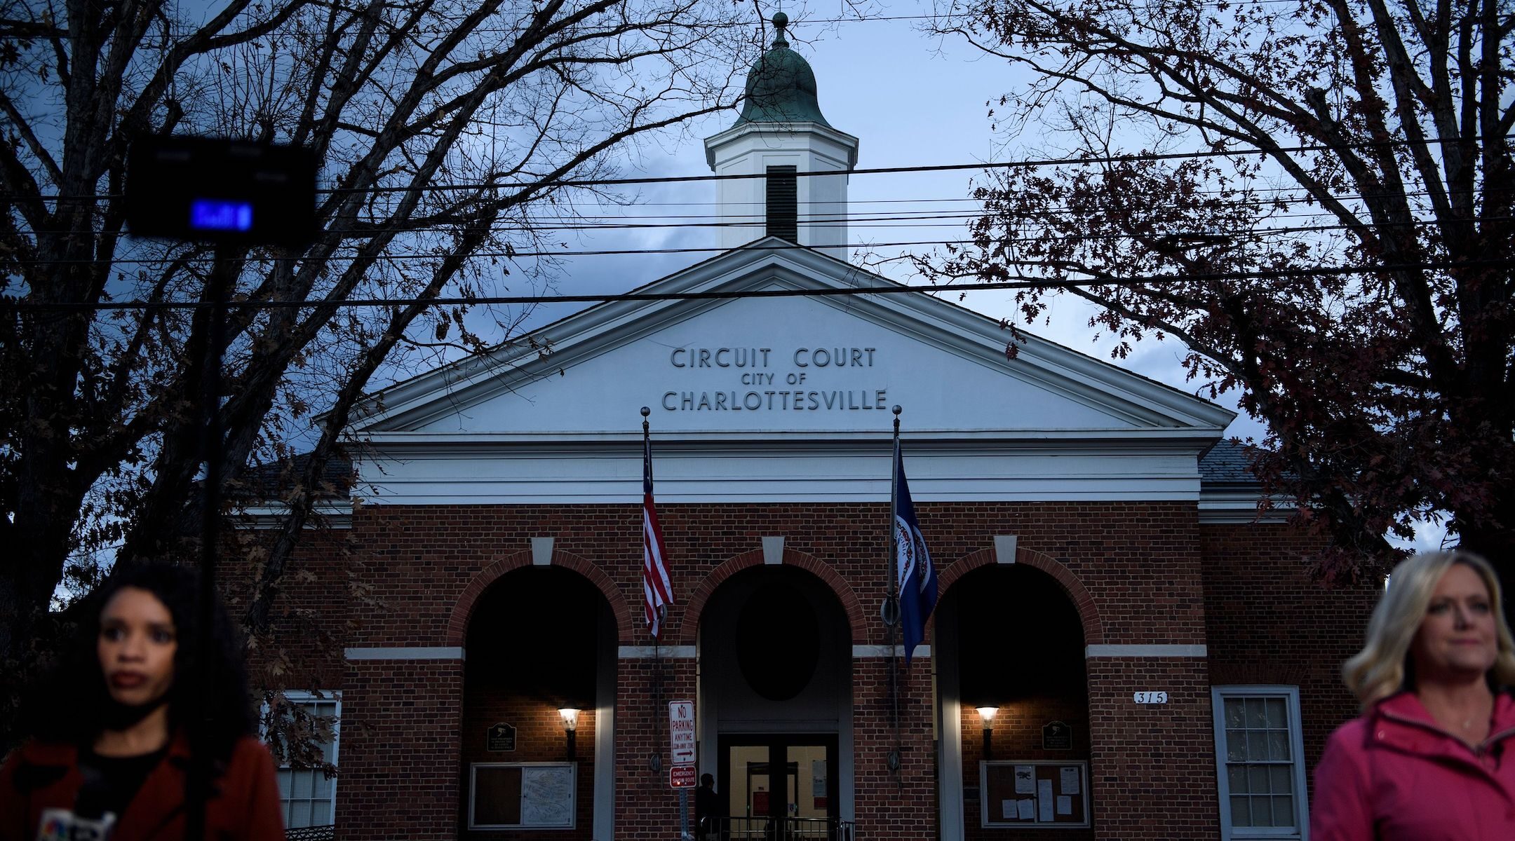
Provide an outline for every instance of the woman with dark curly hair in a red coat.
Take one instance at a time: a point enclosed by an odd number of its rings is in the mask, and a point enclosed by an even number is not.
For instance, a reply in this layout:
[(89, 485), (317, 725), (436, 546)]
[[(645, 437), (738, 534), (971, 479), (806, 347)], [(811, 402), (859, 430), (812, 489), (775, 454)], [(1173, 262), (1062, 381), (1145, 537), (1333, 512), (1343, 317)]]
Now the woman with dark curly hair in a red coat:
[(200, 634), (197, 590), (194, 570), (165, 564), (98, 590), (80, 650), (41, 699), (38, 738), (0, 770), (0, 841), (182, 841), (197, 753), (211, 759), (205, 838), (283, 839), (236, 635), (220, 604)]

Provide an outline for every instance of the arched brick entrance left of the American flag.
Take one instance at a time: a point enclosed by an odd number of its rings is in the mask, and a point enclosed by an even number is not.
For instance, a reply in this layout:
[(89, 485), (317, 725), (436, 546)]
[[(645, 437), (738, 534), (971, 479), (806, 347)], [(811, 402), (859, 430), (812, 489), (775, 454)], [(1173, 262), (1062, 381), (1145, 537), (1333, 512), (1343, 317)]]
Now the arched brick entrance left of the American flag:
[(617, 623), (576, 572), (521, 567), (468, 620), (459, 836), (609, 838)]

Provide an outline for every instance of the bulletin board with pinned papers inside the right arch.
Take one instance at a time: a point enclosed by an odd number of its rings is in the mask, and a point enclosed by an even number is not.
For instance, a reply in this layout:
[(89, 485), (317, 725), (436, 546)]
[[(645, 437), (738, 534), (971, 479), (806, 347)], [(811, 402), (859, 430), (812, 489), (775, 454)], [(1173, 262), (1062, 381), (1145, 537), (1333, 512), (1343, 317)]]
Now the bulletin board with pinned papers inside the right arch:
[(1088, 762), (979, 762), (979, 826), (1089, 826)]

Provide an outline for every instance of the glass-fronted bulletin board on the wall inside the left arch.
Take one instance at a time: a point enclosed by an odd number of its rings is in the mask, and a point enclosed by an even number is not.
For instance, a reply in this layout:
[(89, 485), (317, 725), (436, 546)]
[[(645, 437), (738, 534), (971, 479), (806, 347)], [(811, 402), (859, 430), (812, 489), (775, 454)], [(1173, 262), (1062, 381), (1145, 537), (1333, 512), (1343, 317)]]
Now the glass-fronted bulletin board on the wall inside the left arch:
[(468, 765), (468, 829), (573, 829), (577, 762)]

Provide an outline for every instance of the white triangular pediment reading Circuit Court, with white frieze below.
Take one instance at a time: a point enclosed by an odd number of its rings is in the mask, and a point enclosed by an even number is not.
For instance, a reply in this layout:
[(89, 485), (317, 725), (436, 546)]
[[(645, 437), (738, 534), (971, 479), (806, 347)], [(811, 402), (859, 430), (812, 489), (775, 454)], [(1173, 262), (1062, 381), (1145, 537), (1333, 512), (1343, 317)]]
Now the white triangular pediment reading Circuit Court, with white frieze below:
[(374, 395), (361, 495), (633, 502), (647, 407), (659, 501), (888, 501), (898, 405), (917, 501), (1198, 499), (1230, 411), (1036, 337), (1006, 358), (995, 321), (901, 289), (776, 239), (727, 251)]

